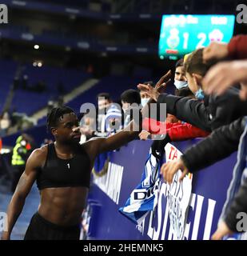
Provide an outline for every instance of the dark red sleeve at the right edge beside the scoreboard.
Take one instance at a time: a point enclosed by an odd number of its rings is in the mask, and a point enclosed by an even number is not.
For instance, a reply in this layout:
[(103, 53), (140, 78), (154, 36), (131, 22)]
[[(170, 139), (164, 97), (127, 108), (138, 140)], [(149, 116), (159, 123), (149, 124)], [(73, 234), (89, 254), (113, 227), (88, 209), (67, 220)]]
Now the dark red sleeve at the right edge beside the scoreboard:
[(239, 34), (228, 44), (230, 58), (247, 58), (247, 35)]

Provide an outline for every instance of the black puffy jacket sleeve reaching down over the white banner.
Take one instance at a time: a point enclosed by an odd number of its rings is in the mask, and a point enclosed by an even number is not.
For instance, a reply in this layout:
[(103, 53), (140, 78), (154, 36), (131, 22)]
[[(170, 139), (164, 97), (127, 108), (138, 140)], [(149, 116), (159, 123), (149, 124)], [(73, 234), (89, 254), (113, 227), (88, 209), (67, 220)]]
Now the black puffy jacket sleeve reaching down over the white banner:
[(247, 117), (238, 118), (229, 125), (221, 126), (207, 138), (186, 150), (181, 159), (189, 172), (193, 173), (210, 166), (236, 151), (246, 121)]

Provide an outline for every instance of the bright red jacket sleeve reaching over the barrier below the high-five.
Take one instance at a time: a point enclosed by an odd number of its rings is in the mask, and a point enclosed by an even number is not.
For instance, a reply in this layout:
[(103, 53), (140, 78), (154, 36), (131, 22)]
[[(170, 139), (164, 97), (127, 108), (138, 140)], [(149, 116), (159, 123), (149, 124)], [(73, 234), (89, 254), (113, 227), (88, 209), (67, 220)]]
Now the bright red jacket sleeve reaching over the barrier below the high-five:
[(173, 142), (184, 141), (190, 138), (206, 137), (209, 132), (201, 130), (187, 122), (167, 123), (160, 122), (152, 118), (144, 118), (142, 129), (149, 131), (151, 134), (167, 134)]

